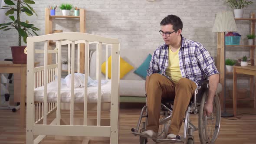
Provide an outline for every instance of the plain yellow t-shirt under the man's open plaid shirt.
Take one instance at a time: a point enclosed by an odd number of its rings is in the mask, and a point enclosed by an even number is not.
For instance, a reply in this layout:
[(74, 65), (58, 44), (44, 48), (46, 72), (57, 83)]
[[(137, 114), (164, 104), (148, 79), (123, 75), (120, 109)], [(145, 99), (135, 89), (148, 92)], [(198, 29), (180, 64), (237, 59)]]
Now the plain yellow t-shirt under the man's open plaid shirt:
[(165, 74), (171, 78), (174, 83), (177, 83), (181, 79), (179, 50), (172, 52), (169, 46), (168, 66), (165, 70)]

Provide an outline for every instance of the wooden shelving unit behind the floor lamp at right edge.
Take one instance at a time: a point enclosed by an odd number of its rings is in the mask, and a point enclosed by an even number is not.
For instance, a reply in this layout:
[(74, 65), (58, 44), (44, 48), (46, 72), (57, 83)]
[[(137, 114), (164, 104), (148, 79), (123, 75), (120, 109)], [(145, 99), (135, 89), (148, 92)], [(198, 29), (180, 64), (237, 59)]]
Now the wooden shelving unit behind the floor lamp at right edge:
[[(255, 22), (256, 22), (256, 17), (255, 17), (255, 13), (251, 14), (251, 18), (236, 18), (235, 20), (249, 20), (251, 21), (250, 23), (250, 28), (251, 34), (255, 34)], [(222, 85), (224, 85), (224, 69), (225, 69), (225, 59), (224, 59), (224, 50), (225, 50), (225, 46), (224, 46), (224, 33), (218, 33), (217, 34), (217, 69), (220, 72), (220, 83)], [(253, 41), (253, 46), (249, 46), (249, 45), (226, 45), (226, 48), (231, 48), (231, 47), (246, 47), (250, 49), (250, 62), (251, 65), (255, 65), (255, 49), (256, 49), (256, 44), (255, 41)], [(229, 49), (230, 50), (230, 49)], [(231, 73), (228, 73), (228, 75), (232, 75)], [(253, 98), (253, 84), (254, 84), (254, 79), (253, 76), (250, 76), (250, 98)], [(224, 87), (222, 88), (224, 89)], [(254, 90), (255, 91), (255, 90)], [(224, 97), (224, 92), (221, 92), (220, 95), (220, 102), (221, 102), (221, 106), (223, 107), (223, 97)], [(247, 98), (247, 99), (250, 99)]]

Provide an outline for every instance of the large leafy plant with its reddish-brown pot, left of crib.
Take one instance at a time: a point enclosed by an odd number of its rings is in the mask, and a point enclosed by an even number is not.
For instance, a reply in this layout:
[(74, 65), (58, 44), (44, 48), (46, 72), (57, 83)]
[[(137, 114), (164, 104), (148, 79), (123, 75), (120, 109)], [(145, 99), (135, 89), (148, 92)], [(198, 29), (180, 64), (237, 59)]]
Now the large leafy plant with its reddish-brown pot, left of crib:
[(13, 56), (13, 63), (26, 63), (26, 54), (24, 54), (24, 49), (26, 46), (21, 46), (21, 37), (23, 37), (23, 41), (26, 43), (28, 34), (33, 36), (32, 33), (34, 33), (36, 36), (38, 36), (36, 31), (39, 31), (40, 29), (29, 23), (28, 20), (25, 22), (20, 21), (20, 14), (26, 13), (28, 16), (36, 14), (36, 12), (30, 6), (30, 4), (34, 4), (35, 2), (33, 0), (4, 0), (4, 3), (6, 3), (6, 6), (3, 6), (0, 8), (0, 10), (7, 9), (5, 15), (9, 16), (10, 22), (0, 23), (0, 29), (3, 29), (4, 31), (10, 29), (17, 30), (19, 35), (18, 46), (10, 46)]

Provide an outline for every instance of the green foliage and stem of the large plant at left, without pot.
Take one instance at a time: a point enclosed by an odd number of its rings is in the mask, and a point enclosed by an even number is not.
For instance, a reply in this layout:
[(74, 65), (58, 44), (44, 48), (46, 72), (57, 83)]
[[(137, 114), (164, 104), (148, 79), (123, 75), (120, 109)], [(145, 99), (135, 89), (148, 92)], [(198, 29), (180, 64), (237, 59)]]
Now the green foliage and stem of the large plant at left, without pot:
[(35, 4), (33, 0), (4, 0), (4, 3), (6, 3), (6, 6), (3, 6), (2, 8), (0, 8), (0, 10), (7, 9), (5, 15), (10, 15), (9, 18), (12, 22), (0, 23), (0, 29), (3, 29), (4, 31), (16, 29), (19, 33), (19, 46), (21, 46), (21, 37), (23, 37), (23, 41), (24, 43), (26, 43), (26, 38), (28, 37), (28, 34), (33, 36), (32, 33), (34, 33), (36, 36), (38, 36), (36, 31), (39, 31), (40, 29), (29, 23), (28, 20), (26, 20), (25, 22), (20, 21), (20, 14), (22, 12), (26, 13), (26, 15), (28, 16), (36, 14), (36, 12), (30, 6), (30, 4)]

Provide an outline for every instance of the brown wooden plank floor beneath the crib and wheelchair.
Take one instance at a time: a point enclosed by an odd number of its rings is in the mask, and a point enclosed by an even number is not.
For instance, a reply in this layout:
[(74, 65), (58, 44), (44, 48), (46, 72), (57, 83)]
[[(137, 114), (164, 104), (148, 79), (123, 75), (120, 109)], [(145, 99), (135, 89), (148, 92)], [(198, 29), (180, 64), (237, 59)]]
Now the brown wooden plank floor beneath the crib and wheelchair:
[[(228, 109), (231, 110), (231, 109)], [(135, 128), (141, 108), (120, 109), (120, 137), (119, 144), (139, 144), (139, 137), (131, 134), (131, 128)], [(19, 112), (0, 110), (0, 144), (25, 144), (26, 131), (19, 128)], [(231, 111), (230, 111), (231, 112)], [(238, 113), (256, 114), (253, 108), (238, 108)], [(76, 112), (75, 116), (81, 116), (82, 112)], [(64, 111), (62, 116), (69, 115)], [(92, 114), (94, 115), (94, 114)], [(197, 116), (190, 115), (191, 121), (197, 126)], [(103, 116), (104, 117), (104, 116)], [(102, 117), (102, 118), (103, 118)], [(108, 117), (105, 115), (105, 117)], [(238, 115), (240, 119), (229, 120), (221, 118), (220, 133), (215, 144), (256, 144), (256, 115)], [(183, 133), (183, 126), (180, 133)], [(194, 132), (195, 144), (200, 144), (198, 131)], [(47, 136), (41, 144), (81, 144), (82, 141), (55, 140), (53, 136)], [(89, 144), (109, 144), (108, 138), (91, 138)], [(154, 144), (149, 140), (148, 144)]]

